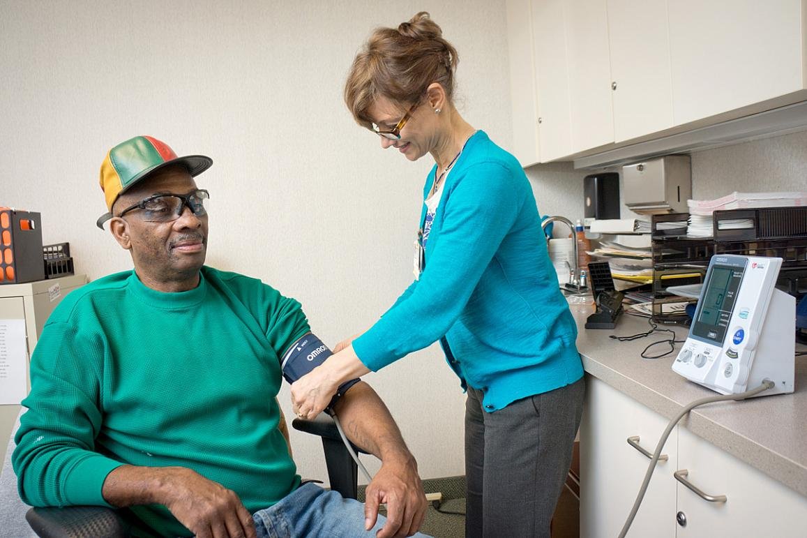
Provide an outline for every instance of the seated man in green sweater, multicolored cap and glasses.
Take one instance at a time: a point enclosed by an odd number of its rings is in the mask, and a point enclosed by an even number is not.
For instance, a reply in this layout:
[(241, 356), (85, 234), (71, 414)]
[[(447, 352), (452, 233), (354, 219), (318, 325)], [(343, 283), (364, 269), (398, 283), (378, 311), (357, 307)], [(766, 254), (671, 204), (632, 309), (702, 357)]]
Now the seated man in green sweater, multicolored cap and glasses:
[(129, 506), (162, 536), (412, 535), (426, 507), (417, 465), (361, 381), (334, 409), (383, 462), (366, 506), (300, 485), (275, 397), (279, 357), (308, 322), (260, 280), (203, 265), (207, 191), (194, 177), (211, 164), (151, 137), (107, 153), (98, 225), (110, 221), (134, 271), (70, 293), (48, 319), (16, 435), (20, 495)]

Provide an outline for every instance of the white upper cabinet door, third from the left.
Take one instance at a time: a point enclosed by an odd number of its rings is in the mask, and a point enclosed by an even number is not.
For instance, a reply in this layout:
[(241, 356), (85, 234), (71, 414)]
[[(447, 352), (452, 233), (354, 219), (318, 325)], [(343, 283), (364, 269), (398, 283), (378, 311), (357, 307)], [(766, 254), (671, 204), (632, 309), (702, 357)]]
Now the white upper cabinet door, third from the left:
[(573, 153), (613, 142), (611, 65), (605, 0), (567, 0)]

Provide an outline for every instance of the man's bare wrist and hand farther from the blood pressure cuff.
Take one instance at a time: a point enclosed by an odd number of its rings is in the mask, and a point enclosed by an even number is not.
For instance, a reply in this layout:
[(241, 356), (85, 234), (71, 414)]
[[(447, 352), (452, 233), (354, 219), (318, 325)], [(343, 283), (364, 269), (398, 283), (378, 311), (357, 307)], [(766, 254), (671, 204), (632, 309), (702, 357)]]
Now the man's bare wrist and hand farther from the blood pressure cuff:
[(199, 538), (256, 538), (235, 492), (184, 467), (123, 465), (109, 473), (102, 492), (113, 506), (163, 504)]

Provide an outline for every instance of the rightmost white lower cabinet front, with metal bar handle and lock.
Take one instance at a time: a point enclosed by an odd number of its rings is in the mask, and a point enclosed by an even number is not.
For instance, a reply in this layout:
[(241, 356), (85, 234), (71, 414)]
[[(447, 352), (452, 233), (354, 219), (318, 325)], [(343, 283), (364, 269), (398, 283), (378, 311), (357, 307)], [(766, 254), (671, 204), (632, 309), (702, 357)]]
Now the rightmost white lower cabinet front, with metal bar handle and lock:
[(678, 469), (686, 469), (686, 479), (705, 494), (726, 500), (705, 501), (676, 482), (678, 511), (687, 521), (677, 536), (805, 536), (807, 498), (684, 428), (679, 429)]

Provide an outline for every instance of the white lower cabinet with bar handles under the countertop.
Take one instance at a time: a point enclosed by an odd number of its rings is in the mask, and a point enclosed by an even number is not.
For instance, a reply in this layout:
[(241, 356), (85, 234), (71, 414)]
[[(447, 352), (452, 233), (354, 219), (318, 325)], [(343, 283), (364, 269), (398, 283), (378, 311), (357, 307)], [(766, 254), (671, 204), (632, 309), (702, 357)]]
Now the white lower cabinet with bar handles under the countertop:
[[(587, 376), (586, 391), (580, 425), (580, 536), (613, 538), (649, 463), (627, 439), (638, 436), (642, 448), (653, 452), (668, 420), (592, 376)], [(805, 536), (807, 497), (684, 427), (673, 429), (662, 453), (668, 459), (656, 466), (627, 536)], [(703, 496), (676, 480), (676, 472)]]

